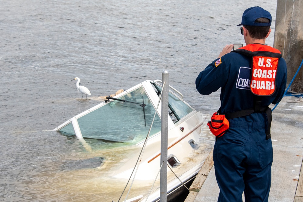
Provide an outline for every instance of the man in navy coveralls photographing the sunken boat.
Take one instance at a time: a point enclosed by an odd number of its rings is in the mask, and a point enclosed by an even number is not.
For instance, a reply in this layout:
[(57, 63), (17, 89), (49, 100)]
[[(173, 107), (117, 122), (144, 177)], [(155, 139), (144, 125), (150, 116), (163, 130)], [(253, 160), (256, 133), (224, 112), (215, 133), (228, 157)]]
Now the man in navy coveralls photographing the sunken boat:
[[(287, 69), (281, 56), (277, 59), (276, 70), (256, 69), (252, 72), (254, 53), (260, 53), (260, 50), (267, 54), (280, 52), (265, 45), (271, 32), (271, 14), (261, 7), (248, 8), (240, 25), (246, 43), (243, 50), (252, 55), (231, 51), (233, 44), (226, 45), (218, 58), (196, 78), (200, 94), (208, 95), (221, 88), (221, 114), (254, 108), (256, 97), (261, 97), (261, 107), (267, 108), (282, 99), (286, 87)], [(265, 65), (266, 62), (260, 59), (259, 66)], [(251, 82), (252, 75), (256, 77), (255, 83)], [(262, 86), (263, 81), (258, 79), (273, 79), (268, 82), (275, 85)], [(258, 96), (251, 88), (265, 94)], [(268, 88), (274, 90), (273, 93), (267, 94)], [(245, 202), (268, 201), (273, 161), (271, 138), (267, 137), (268, 115), (255, 111), (228, 121), (228, 131), (216, 138), (214, 146), (215, 175), (220, 188), (218, 201), (242, 201), (243, 191)]]

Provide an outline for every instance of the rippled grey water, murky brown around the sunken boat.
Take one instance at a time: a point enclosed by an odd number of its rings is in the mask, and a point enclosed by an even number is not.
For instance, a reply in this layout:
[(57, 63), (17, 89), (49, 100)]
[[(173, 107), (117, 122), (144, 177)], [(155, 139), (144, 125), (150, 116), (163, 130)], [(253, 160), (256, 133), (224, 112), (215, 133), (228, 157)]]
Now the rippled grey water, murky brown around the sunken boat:
[[(245, 44), (235, 25), (255, 5), (275, 19), (273, 0), (2, 1), (0, 201), (119, 196), (122, 185), (109, 190), (102, 181), (101, 154), (50, 131), (98, 104), (81, 100), (71, 79), (81, 78), (91, 97), (98, 97), (161, 79), (166, 69), (169, 84), (185, 101), (212, 114), (220, 105), (219, 92), (199, 95), (195, 78), (226, 44)], [(271, 28), (268, 45), (274, 23)], [(211, 148), (205, 138), (205, 148)]]

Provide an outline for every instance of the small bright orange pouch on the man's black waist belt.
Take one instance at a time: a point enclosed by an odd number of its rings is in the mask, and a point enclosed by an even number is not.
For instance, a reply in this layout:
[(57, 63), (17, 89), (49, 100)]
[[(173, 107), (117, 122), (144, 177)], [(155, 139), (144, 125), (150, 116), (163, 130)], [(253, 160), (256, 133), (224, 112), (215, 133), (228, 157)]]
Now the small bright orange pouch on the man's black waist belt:
[(208, 121), (207, 125), (211, 133), (216, 137), (221, 137), (229, 128), (229, 122), (225, 115), (217, 112), (211, 116), (211, 121)]

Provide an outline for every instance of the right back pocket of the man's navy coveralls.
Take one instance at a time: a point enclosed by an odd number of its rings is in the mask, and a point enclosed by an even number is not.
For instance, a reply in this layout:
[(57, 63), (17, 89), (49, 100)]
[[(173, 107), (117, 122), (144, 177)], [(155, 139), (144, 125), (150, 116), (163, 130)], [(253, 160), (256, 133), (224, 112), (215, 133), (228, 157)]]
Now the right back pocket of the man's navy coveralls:
[(260, 153), (260, 166), (262, 168), (272, 163), (272, 143), (271, 139), (257, 142)]

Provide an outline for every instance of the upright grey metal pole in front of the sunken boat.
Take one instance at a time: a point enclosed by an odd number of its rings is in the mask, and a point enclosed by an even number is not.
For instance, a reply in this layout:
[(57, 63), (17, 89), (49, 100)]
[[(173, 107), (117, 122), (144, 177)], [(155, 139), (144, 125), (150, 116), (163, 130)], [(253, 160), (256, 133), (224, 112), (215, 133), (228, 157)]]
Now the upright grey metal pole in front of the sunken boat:
[[(165, 84), (164, 84), (165, 82)], [(164, 84), (164, 86), (163, 86)], [(160, 171), (160, 202), (166, 202), (167, 192), (167, 135), (168, 135), (168, 71), (162, 71), (161, 98), (161, 164)], [(160, 165), (161, 165), (160, 164)]]

